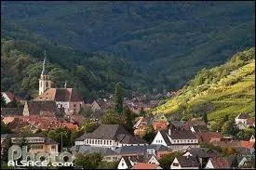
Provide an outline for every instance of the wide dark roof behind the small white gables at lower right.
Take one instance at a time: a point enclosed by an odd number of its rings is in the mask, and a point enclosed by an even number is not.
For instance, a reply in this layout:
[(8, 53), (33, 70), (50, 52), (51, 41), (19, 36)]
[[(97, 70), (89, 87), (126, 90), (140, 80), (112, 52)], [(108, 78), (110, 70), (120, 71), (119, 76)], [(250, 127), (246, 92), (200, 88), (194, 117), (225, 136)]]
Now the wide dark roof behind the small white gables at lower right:
[(217, 150), (211, 150), (208, 148), (191, 148), (188, 150), (196, 158), (211, 158), (214, 156), (220, 156)]

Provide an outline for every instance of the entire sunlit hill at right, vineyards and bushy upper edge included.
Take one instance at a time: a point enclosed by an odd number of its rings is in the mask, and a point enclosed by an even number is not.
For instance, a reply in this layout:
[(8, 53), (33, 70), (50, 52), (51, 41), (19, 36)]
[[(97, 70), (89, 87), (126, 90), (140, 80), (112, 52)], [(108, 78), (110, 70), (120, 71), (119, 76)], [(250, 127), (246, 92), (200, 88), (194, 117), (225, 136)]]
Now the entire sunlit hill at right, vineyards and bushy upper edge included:
[(255, 116), (255, 49), (236, 53), (221, 66), (203, 69), (180, 93), (155, 108), (154, 113), (182, 115), (183, 120), (199, 118), (220, 122), (245, 111)]

